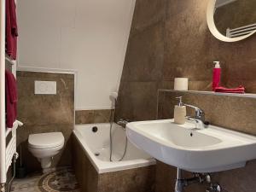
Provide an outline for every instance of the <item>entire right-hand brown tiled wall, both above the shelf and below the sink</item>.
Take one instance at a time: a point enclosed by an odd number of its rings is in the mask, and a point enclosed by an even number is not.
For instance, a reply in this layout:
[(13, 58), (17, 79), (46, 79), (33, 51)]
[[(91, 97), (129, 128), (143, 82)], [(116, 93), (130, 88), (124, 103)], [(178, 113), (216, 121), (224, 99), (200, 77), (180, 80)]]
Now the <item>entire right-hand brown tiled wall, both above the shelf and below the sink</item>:
[[(157, 90), (172, 89), (176, 77), (188, 77), (189, 90), (211, 90), (212, 61), (222, 63), (222, 85), (243, 84), (247, 92), (256, 92), (256, 36), (233, 44), (218, 41), (207, 28), (208, 2), (137, 0), (119, 87), (118, 118), (155, 119)], [(176, 95), (167, 95), (160, 101), (160, 118), (172, 118)], [(255, 99), (187, 94), (184, 97), (185, 102), (205, 108), (212, 124), (255, 135)], [(241, 121), (236, 125), (238, 118)], [(244, 168), (218, 172), (213, 177), (228, 192), (253, 192), (255, 166), (255, 161), (251, 161)], [(158, 162), (156, 192), (173, 191), (175, 177), (174, 167)], [(185, 191), (195, 190), (202, 192), (204, 187), (194, 185)]]

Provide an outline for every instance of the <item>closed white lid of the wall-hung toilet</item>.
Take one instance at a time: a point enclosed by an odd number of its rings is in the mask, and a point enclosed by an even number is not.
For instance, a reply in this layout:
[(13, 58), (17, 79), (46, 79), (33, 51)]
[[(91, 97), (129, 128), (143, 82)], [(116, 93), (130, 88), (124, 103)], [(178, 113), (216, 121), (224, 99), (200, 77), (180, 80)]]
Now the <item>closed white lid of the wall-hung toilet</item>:
[(55, 148), (64, 143), (64, 137), (61, 132), (49, 132), (32, 134), (28, 137), (30, 148)]

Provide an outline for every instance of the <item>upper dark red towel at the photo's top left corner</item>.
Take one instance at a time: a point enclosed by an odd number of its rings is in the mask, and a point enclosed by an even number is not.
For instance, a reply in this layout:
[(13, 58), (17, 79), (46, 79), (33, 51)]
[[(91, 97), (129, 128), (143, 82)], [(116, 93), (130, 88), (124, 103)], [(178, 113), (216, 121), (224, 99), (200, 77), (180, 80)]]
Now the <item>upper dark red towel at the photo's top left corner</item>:
[(6, 53), (13, 60), (16, 60), (17, 55), (17, 37), (18, 37), (18, 26), (16, 18), (16, 4), (15, 0), (6, 0)]

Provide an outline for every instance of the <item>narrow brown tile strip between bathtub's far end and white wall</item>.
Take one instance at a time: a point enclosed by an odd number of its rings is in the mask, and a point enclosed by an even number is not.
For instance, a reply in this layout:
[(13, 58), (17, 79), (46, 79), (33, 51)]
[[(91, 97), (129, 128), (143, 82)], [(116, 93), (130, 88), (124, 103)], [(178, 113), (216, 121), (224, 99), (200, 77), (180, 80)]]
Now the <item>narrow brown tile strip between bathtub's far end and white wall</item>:
[(113, 110), (111, 109), (77, 110), (75, 112), (75, 123), (76, 124), (108, 123), (110, 122), (111, 115), (113, 115)]

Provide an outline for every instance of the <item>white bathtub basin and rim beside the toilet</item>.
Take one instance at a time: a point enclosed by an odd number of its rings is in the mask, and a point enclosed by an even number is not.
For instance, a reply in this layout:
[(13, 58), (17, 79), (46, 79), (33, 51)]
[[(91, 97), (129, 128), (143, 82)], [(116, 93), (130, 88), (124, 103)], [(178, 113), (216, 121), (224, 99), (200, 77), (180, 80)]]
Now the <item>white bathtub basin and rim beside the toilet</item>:
[[(96, 126), (98, 131), (93, 132)], [(125, 149), (125, 131), (119, 125), (113, 124), (113, 161), (110, 156), (110, 124), (75, 125), (75, 137), (84, 148), (84, 153), (89, 158), (98, 173), (116, 172), (155, 164), (155, 160), (142, 150), (136, 148), (128, 141), (125, 158), (118, 160)], [(83, 153), (83, 152), (81, 152)], [(98, 156), (96, 154), (99, 154)]]

